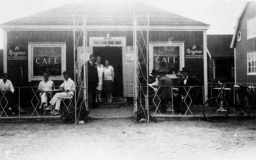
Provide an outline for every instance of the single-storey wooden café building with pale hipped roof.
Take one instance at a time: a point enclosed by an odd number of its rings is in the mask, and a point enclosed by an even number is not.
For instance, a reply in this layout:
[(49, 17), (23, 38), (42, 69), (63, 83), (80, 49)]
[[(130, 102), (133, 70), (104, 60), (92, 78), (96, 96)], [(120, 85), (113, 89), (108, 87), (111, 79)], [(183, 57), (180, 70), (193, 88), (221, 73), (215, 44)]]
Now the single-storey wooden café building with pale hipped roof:
[(113, 96), (133, 97), (133, 23), (146, 14), (148, 72), (165, 67), (176, 74), (187, 67), (207, 86), (208, 24), (142, 3), (92, 3), (63, 5), (1, 24), (3, 68), (14, 87), (37, 86), (45, 70), (56, 85), (63, 82), (64, 70), (74, 79), (74, 14), (86, 17), (89, 54), (101, 55), (102, 64), (109, 59), (115, 70)]

